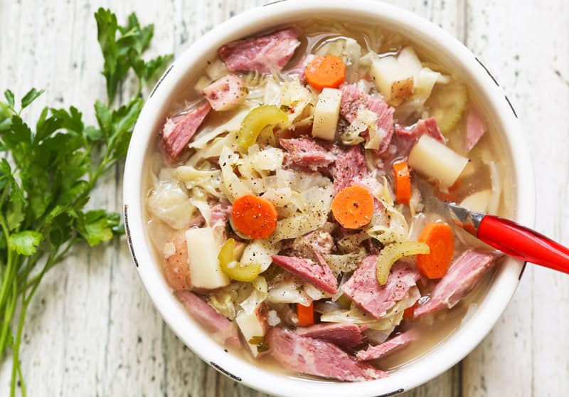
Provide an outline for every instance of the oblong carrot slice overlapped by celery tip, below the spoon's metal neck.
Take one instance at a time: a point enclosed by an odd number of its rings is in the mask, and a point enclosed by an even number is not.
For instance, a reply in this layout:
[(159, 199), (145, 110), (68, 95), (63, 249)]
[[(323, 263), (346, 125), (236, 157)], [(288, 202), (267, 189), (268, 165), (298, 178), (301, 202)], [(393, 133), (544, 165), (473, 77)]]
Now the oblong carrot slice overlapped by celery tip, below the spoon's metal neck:
[(447, 223), (427, 223), (419, 241), (430, 248), (430, 253), (417, 255), (417, 267), (427, 278), (440, 278), (447, 272), (454, 254), (454, 236)]

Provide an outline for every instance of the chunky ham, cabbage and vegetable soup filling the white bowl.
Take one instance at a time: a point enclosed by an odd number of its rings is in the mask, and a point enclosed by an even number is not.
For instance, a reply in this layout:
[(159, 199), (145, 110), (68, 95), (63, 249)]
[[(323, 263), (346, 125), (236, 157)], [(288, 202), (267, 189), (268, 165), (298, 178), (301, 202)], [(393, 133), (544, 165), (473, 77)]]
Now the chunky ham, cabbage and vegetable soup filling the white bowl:
[(173, 102), (148, 230), (188, 315), (291, 376), (388, 376), (459, 327), (501, 258), (445, 202), (508, 215), (483, 107), (395, 33), (314, 19), (228, 43)]

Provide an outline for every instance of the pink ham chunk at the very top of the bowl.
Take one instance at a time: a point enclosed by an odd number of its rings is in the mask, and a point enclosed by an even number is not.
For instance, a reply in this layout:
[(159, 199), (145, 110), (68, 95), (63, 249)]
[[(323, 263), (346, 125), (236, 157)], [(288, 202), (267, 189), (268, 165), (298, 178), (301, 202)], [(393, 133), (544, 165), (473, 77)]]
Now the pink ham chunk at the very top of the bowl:
[(285, 29), (266, 36), (233, 41), (219, 49), (219, 58), (231, 71), (280, 72), (300, 45), (298, 34)]

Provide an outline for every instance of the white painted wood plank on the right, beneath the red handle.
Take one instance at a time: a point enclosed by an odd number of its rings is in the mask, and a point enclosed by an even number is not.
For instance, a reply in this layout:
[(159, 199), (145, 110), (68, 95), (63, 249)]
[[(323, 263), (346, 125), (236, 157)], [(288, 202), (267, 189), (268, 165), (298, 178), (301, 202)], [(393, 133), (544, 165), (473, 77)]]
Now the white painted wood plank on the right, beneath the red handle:
[[(568, 36), (568, 11), (562, 0), (539, 6), (531, 1), (469, 1), (467, 23), (467, 45), (509, 94), (531, 147), (537, 229), (565, 244), (569, 217), (561, 210), (569, 162), (560, 147), (569, 144), (569, 46), (563, 39)], [(566, 394), (569, 381), (559, 375), (569, 368), (568, 295), (566, 277), (528, 268), (504, 316), (464, 361), (464, 395)]]

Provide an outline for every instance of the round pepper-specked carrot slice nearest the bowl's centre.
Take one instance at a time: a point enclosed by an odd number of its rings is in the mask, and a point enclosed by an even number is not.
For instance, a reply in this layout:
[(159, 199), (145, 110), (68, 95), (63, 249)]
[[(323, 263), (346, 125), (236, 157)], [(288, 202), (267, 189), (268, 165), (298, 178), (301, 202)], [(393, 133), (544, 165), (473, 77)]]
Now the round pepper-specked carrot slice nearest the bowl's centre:
[(361, 186), (346, 187), (334, 197), (332, 213), (344, 228), (361, 228), (371, 221), (373, 197)]

